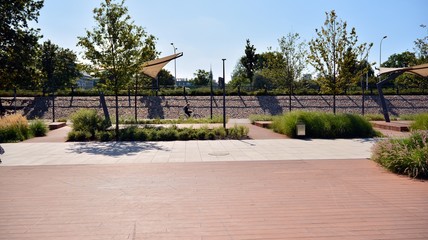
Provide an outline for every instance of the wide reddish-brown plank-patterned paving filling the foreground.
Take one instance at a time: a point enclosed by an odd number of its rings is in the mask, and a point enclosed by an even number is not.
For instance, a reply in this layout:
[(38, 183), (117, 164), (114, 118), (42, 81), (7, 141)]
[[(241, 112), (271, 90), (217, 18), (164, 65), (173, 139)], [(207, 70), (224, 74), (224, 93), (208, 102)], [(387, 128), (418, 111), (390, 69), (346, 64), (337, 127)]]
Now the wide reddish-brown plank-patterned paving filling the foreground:
[(369, 160), (0, 167), (0, 239), (428, 239)]

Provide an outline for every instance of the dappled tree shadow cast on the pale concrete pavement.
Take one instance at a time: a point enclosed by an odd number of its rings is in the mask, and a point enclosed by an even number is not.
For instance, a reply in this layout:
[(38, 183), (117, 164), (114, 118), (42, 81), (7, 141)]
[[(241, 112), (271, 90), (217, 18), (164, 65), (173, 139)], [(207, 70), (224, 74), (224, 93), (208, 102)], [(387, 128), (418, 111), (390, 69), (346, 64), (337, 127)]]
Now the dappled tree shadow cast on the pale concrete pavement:
[(87, 153), (119, 157), (135, 155), (150, 150), (169, 151), (169, 149), (156, 142), (80, 142), (71, 145), (67, 150), (74, 153)]

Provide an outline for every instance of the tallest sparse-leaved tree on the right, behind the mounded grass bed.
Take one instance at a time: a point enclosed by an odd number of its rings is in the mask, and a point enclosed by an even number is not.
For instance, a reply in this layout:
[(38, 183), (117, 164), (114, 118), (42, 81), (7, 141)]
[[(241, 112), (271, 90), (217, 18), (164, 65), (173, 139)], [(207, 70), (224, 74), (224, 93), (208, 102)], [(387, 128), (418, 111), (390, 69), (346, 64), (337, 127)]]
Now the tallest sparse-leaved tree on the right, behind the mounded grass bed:
[[(348, 33), (347, 23), (338, 19), (336, 12), (326, 12), (326, 20), (321, 29), (316, 29), (317, 38), (309, 42), (309, 63), (320, 74), (321, 92), (333, 94), (333, 112), (336, 113), (336, 94), (347, 89), (346, 69), (355, 56), (366, 59), (373, 44), (357, 45), (355, 28)], [(350, 59), (351, 58), (351, 59)], [(368, 71), (368, 69), (367, 69)]]

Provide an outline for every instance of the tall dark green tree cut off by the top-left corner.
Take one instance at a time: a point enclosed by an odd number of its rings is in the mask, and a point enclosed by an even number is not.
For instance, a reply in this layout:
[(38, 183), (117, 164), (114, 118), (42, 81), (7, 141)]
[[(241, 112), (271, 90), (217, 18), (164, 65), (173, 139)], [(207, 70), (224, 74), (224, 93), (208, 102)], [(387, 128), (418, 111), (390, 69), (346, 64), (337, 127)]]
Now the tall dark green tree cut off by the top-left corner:
[(37, 21), (43, 0), (2, 0), (0, 4), (0, 89), (31, 86), (36, 76), (39, 29)]

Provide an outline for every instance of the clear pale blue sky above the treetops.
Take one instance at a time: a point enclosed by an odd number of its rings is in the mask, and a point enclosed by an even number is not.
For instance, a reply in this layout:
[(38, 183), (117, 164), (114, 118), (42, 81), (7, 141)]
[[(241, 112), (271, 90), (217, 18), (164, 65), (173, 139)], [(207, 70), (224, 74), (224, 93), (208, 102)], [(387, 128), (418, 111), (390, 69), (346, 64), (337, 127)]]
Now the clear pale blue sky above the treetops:
[[(100, 0), (45, 0), (39, 22), (43, 40), (80, 53), (77, 36), (95, 25), (92, 10)], [(173, 53), (171, 42), (184, 56), (177, 59), (177, 78), (192, 78), (197, 69), (222, 75), (226, 58), (226, 80), (244, 55), (246, 39), (257, 52), (278, 48), (278, 39), (297, 32), (307, 42), (323, 26), (325, 12), (355, 27), (359, 40), (374, 44), (369, 60), (379, 62), (391, 54), (413, 51), (416, 38), (428, 34), (427, 0), (127, 0), (125, 5), (135, 24), (159, 38), (161, 56)], [(166, 66), (174, 74), (174, 63)]]

